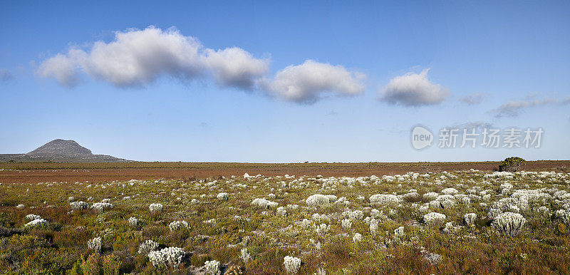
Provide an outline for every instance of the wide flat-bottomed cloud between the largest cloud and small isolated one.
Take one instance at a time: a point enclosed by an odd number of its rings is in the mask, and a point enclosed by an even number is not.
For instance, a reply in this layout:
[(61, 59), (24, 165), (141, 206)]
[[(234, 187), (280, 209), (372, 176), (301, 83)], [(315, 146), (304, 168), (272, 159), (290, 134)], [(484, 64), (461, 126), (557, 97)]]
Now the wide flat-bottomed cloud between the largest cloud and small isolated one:
[(363, 93), (365, 78), (363, 73), (347, 71), (343, 66), (307, 60), (277, 72), (272, 81), (266, 81), (264, 88), (283, 100), (314, 103), (326, 95)]

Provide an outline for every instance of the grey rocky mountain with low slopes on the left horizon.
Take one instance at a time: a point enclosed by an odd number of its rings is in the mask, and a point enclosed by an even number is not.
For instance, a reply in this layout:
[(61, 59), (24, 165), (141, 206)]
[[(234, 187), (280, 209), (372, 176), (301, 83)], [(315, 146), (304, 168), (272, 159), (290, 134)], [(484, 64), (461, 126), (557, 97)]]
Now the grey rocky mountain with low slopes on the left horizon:
[(53, 162), (130, 162), (110, 155), (94, 155), (75, 140), (52, 140), (26, 154), (0, 154), (0, 162), (53, 161)]

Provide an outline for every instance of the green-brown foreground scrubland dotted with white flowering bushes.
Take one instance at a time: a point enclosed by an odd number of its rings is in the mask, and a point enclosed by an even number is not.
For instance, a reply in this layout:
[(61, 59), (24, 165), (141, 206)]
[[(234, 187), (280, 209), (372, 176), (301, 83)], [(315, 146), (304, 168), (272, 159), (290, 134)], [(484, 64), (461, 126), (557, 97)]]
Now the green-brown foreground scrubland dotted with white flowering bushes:
[(570, 174), (0, 185), (6, 274), (570, 273)]

